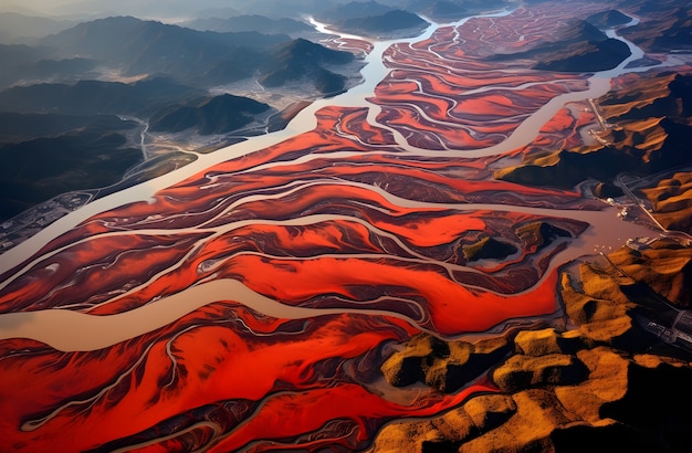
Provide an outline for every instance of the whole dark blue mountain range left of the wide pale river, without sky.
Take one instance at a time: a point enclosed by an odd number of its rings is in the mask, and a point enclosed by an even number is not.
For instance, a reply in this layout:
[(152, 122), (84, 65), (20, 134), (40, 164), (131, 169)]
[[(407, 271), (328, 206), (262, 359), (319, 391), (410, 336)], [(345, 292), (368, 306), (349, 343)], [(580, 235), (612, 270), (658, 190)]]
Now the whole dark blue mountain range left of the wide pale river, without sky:
[[(42, 27), (56, 32), (31, 45), (0, 44), (0, 220), (65, 191), (118, 183), (143, 159), (141, 126), (151, 131), (224, 135), (268, 120), (274, 109), (243, 96), (210, 96), (211, 87), (256, 78), (279, 91), (297, 81), (307, 98), (345, 88), (347, 78), (333, 70), (353, 62), (352, 53), (276, 32), (314, 34), (305, 23), (256, 15), (202, 23), (233, 31), (109, 17), (50, 22)], [(162, 169), (157, 162), (145, 164), (147, 171)]]

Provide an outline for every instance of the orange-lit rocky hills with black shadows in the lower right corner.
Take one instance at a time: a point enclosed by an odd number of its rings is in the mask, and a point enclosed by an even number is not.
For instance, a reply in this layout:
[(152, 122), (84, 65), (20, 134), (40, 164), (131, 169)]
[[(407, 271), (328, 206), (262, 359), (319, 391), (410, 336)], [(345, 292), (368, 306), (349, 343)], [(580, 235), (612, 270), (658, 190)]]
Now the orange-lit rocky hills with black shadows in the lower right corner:
[(580, 264), (578, 276), (563, 272), (560, 325), (450, 343), (422, 335), (395, 352), (382, 366), (392, 386), (454, 392), (490, 379), (497, 391), (438, 418), (392, 422), (371, 451), (577, 452), (604, 442), (686, 451), (692, 355), (646, 331), (635, 314), (647, 309), (639, 286), (689, 305), (692, 250), (658, 241), (608, 259)]

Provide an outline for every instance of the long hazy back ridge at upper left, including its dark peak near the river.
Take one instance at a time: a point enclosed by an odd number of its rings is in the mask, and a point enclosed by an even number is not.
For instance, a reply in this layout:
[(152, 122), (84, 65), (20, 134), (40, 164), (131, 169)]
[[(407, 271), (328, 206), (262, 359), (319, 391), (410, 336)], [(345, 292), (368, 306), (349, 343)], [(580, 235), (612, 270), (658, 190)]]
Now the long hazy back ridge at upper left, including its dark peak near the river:
[[(38, 80), (73, 82), (75, 76), (94, 77), (99, 71), (126, 77), (166, 75), (193, 86), (228, 84), (259, 74), (280, 86), (300, 65), (307, 63), (310, 71), (304, 73), (310, 73), (315, 65), (353, 61), (350, 53), (307, 45), (286, 34), (199, 31), (132, 17), (83, 22), (39, 40), (35, 46), (1, 45), (0, 56), (6, 62), (0, 77), (4, 86)], [(289, 74), (276, 76), (282, 67)]]

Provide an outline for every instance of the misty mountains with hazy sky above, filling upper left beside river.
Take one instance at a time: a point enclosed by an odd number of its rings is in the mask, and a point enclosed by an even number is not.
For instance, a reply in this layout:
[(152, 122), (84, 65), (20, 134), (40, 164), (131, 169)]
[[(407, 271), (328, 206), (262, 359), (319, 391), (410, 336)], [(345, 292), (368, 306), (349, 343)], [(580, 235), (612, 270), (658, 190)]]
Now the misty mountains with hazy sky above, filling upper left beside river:
[[(175, 168), (165, 156), (146, 160), (138, 150), (144, 134), (250, 134), (263, 122), (276, 128), (291, 114), (271, 119), (276, 108), (266, 99), (285, 86), (312, 99), (358, 83), (357, 57), (322, 45), (325, 36), (307, 22), (310, 14), (352, 32), (394, 35), (427, 27), (416, 11), (449, 4), (4, 2), (0, 220), (66, 191), (118, 183), (134, 166), (135, 181)], [(237, 87), (224, 88), (229, 84)], [(265, 98), (248, 97), (249, 86)]]

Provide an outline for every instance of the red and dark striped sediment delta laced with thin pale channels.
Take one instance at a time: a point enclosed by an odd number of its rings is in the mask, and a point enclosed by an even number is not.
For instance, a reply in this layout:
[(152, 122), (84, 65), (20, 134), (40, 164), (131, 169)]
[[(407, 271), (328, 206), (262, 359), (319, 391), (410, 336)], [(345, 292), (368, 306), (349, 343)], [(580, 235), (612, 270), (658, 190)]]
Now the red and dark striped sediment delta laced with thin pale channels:
[[(483, 61), (552, 20), (517, 10), (395, 45), (370, 103), (217, 151), (230, 157), (7, 267), (0, 450), (353, 451), (390, 420), (494, 391), (482, 376), (454, 394), (394, 389), (379, 366), (421, 330), (551, 316), (557, 266), (610, 240), (600, 203), (492, 178), (503, 159), (577, 141), (589, 113), (564, 107), (506, 152), (457, 152), (585, 87)], [(507, 252), (469, 252), (487, 238)]]

